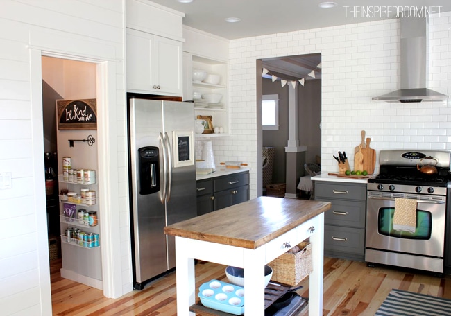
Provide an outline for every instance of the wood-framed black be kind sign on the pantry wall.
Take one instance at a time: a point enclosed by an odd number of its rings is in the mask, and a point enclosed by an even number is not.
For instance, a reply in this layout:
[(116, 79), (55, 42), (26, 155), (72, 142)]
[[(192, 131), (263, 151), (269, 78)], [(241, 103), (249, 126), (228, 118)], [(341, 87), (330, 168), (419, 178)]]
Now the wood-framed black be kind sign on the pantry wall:
[(96, 99), (57, 100), (58, 130), (97, 130)]

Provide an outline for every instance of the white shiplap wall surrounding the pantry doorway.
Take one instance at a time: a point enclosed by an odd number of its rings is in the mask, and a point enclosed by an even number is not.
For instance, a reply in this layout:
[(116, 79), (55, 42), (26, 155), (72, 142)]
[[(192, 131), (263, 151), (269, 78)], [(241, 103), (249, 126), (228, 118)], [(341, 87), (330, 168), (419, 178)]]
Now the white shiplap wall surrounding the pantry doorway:
[[(99, 146), (108, 152), (103, 173), (111, 184), (108, 223), (111, 280), (106, 292), (132, 289), (126, 182), (124, 1), (2, 0), (0, 3), (0, 173), (12, 188), (0, 190), (1, 315), (51, 315), (44, 191), (40, 51), (103, 63), (108, 100)], [(36, 55), (36, 52), (39, 55)], [(38, 80), (36, 80), (36, 78)], [(38, 85), (35, 85), (39, 82)], [(108, 114), (105, 114), (108, 112)], [(98, 139), (96, 139), (98, 141)], [(120, 234), (120, 235), (119, 235)], [(88, 267), (89, 268), (89, 267)]]

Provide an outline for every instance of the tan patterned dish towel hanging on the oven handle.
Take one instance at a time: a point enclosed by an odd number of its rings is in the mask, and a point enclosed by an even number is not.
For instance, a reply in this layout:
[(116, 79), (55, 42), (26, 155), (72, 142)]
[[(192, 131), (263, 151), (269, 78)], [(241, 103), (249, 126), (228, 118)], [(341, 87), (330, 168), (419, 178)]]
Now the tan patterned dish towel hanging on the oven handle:
[(395, 198), (393, 229), (396, 231), (416, 230), (416, 199)]

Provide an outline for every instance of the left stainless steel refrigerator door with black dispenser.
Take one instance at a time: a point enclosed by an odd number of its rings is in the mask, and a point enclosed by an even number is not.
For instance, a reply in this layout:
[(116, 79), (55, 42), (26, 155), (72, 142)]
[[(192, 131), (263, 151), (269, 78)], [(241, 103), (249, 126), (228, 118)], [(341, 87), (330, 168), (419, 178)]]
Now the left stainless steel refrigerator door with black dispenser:
[[(133, 217), (133, 254), (135, 283), (142, 283), (167, 270), (166, 225), (162, 197), (164, 177), (162, 161), (162, 102), (157, 100), (130, 99), (130, 168), (131, 168), (131, 216)], [(159, 190), (139, 192), (139, 149), (158, 148), (160, 173)], [(145, 160), (142, 159), (142, 163)], [(157, 177), (154, 177), (155, 179)], [(144, 182), (141, 182), (144, 183)], [(155, 188), (155, 186), (153, 188)], [(152, 192), (148, 194), (148, 192)]]

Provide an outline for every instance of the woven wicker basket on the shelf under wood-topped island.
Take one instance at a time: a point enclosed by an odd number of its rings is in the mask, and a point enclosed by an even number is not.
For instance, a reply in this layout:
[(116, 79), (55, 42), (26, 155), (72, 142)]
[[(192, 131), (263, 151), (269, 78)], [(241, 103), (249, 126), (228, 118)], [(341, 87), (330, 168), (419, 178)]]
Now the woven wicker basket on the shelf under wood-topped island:
[(298, 247), (301, 249), (300, 252), (296, 254), (286, 252), (269, 263), (273, 268), (272, 281), (296, 286), (312, 272), (312, 245), (303, 242)]

